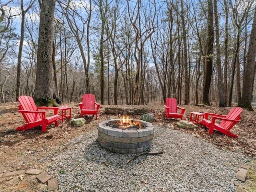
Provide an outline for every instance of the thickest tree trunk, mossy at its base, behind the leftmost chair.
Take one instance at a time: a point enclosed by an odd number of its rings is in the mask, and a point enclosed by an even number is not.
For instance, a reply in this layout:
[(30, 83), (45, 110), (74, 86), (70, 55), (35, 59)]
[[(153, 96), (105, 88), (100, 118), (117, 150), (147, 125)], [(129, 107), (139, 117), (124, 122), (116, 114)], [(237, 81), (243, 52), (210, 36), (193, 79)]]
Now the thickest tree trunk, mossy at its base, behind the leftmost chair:
[(34, 100), (37, 105), (52, 105), (52, 42), (56, 0), (40, 2), (40, 23), (36, 62), (36, 88)]

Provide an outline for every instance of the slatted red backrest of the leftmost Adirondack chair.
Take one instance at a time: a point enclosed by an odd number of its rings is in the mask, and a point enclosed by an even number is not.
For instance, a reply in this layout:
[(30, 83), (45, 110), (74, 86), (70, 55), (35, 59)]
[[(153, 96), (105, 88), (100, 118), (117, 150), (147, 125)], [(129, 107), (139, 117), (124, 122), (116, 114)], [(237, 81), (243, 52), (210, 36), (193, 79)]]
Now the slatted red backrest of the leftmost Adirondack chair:
[[(20, 102), (20, 105), (19, 105), (20, 110), (37, 111), (36, 104), (32, 97), (23, 95), (18, 98), (18, 101)], [(27, 123), (35, 122), (37, 120), (42, 119), (42, 116), (40, 114), (22, 113), (22, 115)]]

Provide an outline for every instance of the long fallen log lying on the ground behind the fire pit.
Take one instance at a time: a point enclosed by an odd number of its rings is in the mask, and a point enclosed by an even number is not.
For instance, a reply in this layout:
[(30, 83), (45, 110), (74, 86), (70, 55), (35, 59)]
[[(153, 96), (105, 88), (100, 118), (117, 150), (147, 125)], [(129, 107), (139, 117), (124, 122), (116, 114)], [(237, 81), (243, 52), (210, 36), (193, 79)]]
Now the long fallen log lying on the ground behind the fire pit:
[(142, 115), (150, 112), (150, 108), (105, 106), (105, 114)]

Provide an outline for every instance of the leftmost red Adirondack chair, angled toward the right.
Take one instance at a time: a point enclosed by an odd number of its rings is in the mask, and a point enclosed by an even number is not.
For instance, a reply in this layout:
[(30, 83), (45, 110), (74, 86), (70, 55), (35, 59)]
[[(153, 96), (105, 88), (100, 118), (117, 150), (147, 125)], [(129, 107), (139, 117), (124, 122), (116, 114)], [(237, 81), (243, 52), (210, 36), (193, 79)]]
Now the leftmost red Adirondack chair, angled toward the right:
[[(46, 126), (54, 123), (58, 127), (58, 107), (37, 107), (33, 98), (30, 96), (20, 96), (18, 98), (20, 102), (19, 110), (24, 117), (26, 124), (18, 127), (16, 130), (27, 130), (36, 126), (42, 125), (42, 131), (46, 131)], [(46, 117), (46, 110), (54, 110), (54, 115)]]

